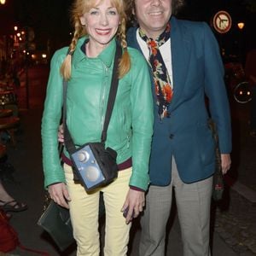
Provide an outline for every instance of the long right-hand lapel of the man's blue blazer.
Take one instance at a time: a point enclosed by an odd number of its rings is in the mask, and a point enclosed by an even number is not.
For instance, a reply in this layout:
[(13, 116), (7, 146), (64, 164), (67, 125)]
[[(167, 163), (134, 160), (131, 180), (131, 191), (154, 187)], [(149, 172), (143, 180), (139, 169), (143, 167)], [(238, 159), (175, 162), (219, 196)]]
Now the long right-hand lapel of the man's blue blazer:
[(171, 49), (173, 97), (169, 108), (172, 115), (172, 109), (177, 106), (188, 77), (191, 53), (187, 31), (178, 24), (178, 20), (174, 17), (171, 19)]

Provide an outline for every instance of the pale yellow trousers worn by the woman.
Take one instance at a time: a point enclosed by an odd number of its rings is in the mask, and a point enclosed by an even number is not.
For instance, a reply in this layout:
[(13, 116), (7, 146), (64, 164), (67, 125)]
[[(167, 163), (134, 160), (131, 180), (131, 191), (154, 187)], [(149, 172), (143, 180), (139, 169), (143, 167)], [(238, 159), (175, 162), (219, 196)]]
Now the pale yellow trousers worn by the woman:
[(125, 224), (125, 218), (120, 210), (129, 190), (131, 168), (120, 171), (113, 183), (90, 194), (81, 184), (73, 182), (73, 171), (70, 166), (64, 164), (64, 171), (67, 189), (71, 197), (69, 207), (73, 236), (78, 245), (77, 255), (100, 255), (98, 232), (100, 191), (103, 192), (106, 208), (104, 256), (126, 255), (131, 224)]

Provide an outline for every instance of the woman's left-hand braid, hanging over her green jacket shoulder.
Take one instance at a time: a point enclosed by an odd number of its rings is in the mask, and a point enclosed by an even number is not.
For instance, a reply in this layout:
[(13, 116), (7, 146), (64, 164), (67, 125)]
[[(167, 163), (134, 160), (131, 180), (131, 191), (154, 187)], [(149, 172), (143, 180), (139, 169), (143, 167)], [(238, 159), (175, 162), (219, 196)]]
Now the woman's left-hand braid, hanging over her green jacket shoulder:
[(78, 44), (79, 37), (82, 34), (81, 25), (79, 23), (79, 20), (75, 22), (75, 32), (73, 33), (73, 38), (71, 40), (71, 44), (69, 45), (68, 54), (66, 58), (64, 59), (62, 65), (61, 65), (61, 74), (65, 80), (68, 80), (71, 78), (71, 59), (74, 50), (76, 49), (76, 46)]

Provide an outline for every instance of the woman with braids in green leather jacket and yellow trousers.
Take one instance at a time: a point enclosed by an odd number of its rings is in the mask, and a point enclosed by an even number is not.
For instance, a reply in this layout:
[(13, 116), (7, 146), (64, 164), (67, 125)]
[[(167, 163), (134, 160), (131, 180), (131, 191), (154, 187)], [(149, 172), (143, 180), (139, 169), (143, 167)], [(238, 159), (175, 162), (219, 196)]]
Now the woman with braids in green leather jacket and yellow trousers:
[[(149, 183), (153, 101), (148, 66), (143, 55), (127, 48), (125, 0), (77, 0), (72, 18), (72, 43), (69, 49), (57, 50), (51, 61), (42, 120), (44, 184), (56, 203), (70, 208), (78, 255), (100, 253), (97, 212), (102, 191), (106, 207), (104, 255), (126, 255), (131, 219), (143, 211)], [(117, 152), (119, 172), (113, 183), (87, 193), (81, 184), (73, 182), (67, 151), (63, 156), (64, 172), (58, 156), (62, 79), (68, 81), (67, 127), (75, 145), (100, 142), (116, 40), (123, 54), (106, 147)]]

